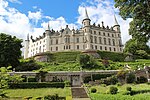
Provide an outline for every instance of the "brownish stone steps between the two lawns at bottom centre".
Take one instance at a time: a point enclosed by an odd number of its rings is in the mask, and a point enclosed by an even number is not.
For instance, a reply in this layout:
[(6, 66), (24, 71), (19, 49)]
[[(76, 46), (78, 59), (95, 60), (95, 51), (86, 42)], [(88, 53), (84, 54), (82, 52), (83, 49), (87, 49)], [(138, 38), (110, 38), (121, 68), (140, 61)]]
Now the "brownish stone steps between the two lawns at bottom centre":
[(90, 100), (83, 87), (72, 87), (71, 92), (73, 100)]

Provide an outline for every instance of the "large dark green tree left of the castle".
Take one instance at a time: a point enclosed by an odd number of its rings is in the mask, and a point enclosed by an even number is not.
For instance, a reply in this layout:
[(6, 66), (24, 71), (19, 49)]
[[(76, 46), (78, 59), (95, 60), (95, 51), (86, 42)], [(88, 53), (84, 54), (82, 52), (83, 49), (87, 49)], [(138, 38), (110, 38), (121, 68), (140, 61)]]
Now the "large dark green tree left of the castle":
[(22, 40), (15, 36), (0, 33), (0, 67), (19, 65), (21, 56)]

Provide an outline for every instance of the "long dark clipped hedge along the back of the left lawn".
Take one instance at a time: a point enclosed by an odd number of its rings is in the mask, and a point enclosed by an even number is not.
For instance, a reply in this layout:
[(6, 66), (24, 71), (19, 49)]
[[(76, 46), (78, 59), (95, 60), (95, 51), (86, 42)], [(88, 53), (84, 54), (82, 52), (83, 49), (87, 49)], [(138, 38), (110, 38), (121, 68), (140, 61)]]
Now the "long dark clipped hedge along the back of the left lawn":
[(26, 88), (64, 88), (64, 82), (29, 82), (29, 83), (11, 83), (9, 88), (11, 89), (26, 89)]

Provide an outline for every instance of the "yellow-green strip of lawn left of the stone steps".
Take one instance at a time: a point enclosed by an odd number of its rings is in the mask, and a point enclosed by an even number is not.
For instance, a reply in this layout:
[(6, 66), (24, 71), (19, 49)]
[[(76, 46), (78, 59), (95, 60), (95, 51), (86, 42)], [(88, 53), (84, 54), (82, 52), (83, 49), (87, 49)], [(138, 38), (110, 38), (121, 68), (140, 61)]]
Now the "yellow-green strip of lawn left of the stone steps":
[(39, 89), (8, 89), (5, 91), (9, 97), (44, 97), (46, 95), (58, 94), (59, 96), (71, 96), (70, 88), (39, 88)]

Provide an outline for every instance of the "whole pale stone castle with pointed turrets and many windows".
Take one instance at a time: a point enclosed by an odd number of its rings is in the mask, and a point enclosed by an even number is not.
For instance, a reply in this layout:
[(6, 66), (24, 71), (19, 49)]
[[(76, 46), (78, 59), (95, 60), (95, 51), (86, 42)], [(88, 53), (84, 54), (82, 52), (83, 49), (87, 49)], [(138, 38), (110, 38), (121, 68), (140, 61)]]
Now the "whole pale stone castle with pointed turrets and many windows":
[(59, 32), (45, 30), (42, 36), (33, 39), (29, 35), (25, 40), (24, 58), (35, 56), (43, 52), (63, 52), (63, 51), (85, 51), (101, 50), (110, 52), (122, 52), (120, 25), (114, 16), (114, 26), (105, 27), (104, 23), (91, 25), (87, 10), (85, 9), (85, 18), (82, 21), (80, 29), (65, 29)]

